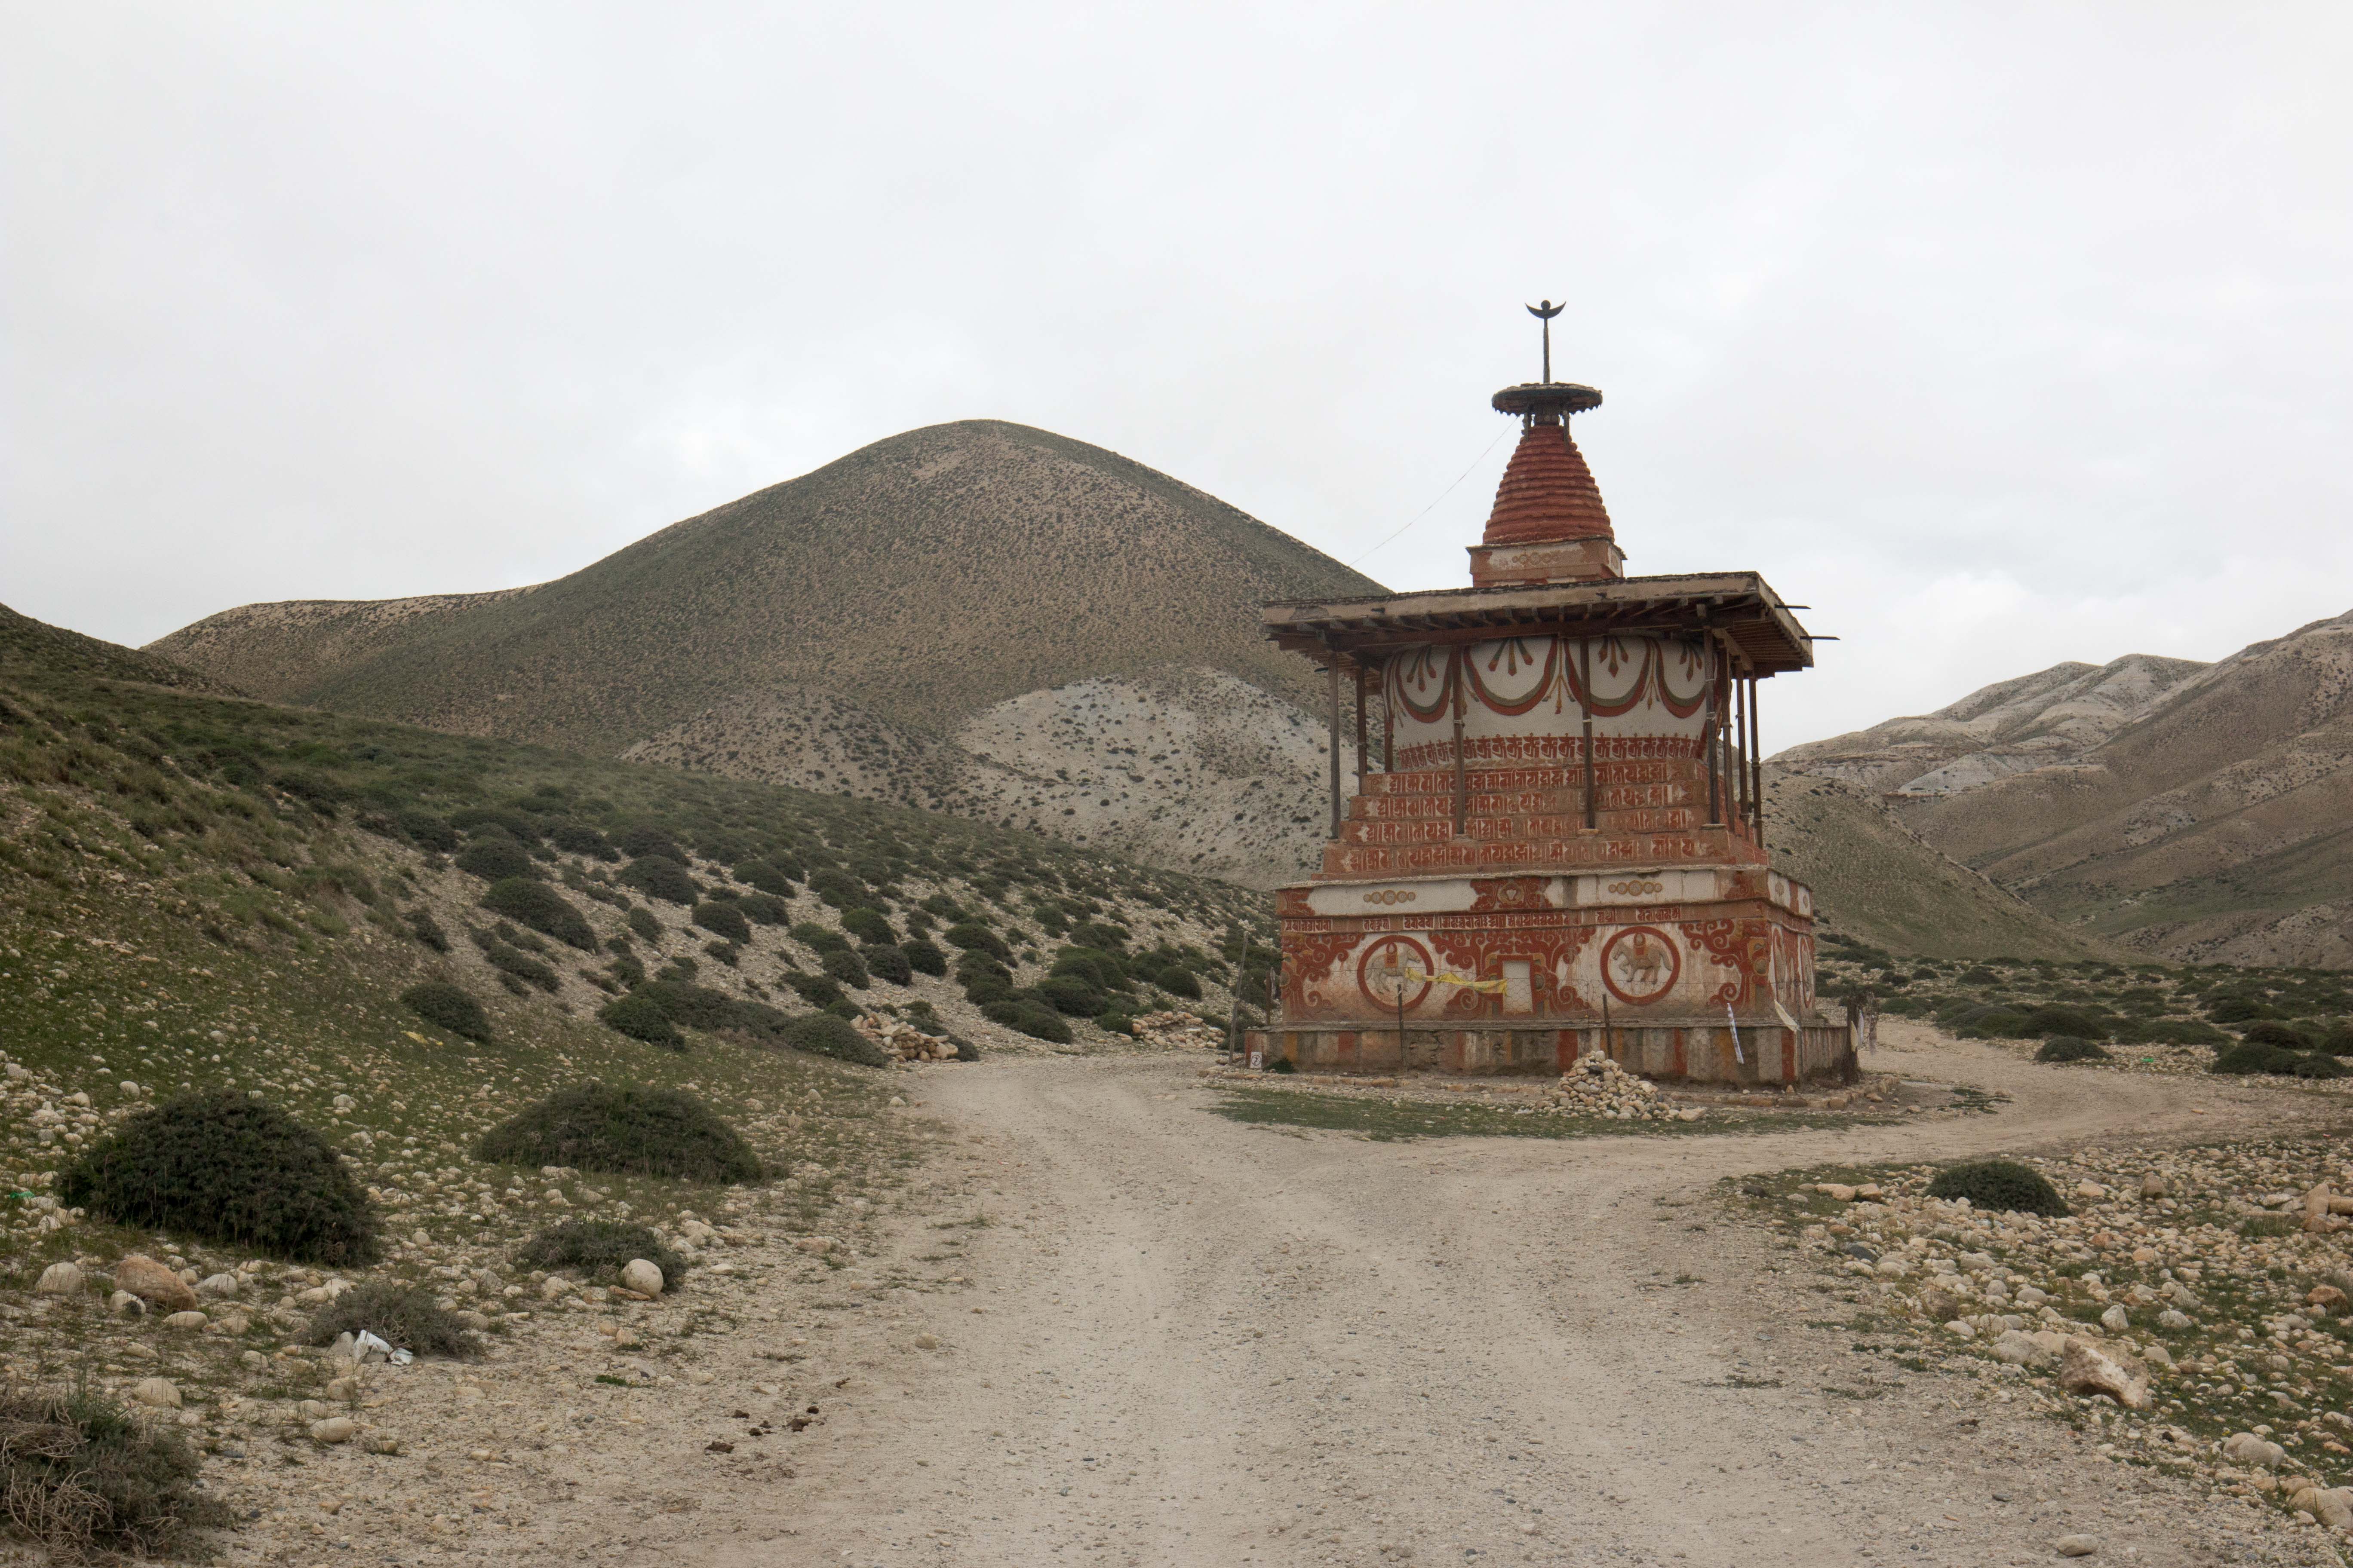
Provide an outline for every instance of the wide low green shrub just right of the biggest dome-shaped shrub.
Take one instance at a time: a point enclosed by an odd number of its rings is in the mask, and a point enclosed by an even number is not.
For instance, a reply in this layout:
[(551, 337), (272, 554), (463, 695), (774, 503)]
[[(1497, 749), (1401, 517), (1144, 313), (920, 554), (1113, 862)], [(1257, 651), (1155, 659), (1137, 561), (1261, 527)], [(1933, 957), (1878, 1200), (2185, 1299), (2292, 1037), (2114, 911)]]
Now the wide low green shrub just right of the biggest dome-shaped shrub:
[(508, 1166), (579, 1166), (732, 1185), (760, 1180), (744, 1135), (680, 1088), (558, 1088), (482, 1133), (475, 1159)]

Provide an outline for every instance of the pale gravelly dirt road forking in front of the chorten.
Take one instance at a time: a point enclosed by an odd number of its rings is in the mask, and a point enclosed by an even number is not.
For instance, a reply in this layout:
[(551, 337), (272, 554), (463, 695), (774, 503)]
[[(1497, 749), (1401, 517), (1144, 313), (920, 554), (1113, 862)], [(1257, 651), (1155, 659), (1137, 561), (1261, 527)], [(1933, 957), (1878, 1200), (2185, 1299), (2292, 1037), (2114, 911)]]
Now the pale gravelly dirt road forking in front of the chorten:
[(1367, 1143), (1207, 1114), (1174, 1063), (934, 1074), (929, 1112), (995, 1145), (993, 1206), (1021, 1225), (984, 1232), (896, 1413), (802, 1450), (791, 1516), (758, 1530), (781, 1533), (694, 1556), (1977, 1566), (2087, 1533), (2101, 1561), (2334, 1561), (1857, 1354), (1812, 1267), (1718, 1218), (1722, 1175), (2238, 1119), (2209, 1081), (1922, 1041), (1878, 1065), (2012, 1103), (1838, 1133)]

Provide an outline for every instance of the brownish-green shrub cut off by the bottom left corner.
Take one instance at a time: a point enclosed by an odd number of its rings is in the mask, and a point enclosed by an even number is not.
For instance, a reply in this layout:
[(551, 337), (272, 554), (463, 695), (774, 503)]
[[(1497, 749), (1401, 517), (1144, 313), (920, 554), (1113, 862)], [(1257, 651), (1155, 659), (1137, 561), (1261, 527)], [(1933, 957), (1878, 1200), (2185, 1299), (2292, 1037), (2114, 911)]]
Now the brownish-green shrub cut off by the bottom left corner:
[(198, 1469), (176, 1427), (87, 1385), (0, 1389), (0, 1519), (61, 1561), (202, 1556), (191, 1533), (228, 1528), (235, 1514), (202, 1490)]

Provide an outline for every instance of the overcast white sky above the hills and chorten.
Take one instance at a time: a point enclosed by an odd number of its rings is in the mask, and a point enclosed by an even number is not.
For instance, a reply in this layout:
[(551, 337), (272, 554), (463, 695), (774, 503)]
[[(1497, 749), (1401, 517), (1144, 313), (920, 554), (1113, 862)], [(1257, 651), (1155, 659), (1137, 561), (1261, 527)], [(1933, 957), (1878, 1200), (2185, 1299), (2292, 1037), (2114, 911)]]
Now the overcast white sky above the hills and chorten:
[(967, 416), (1461, 583), (1546, 294), (1628, 569), (1842, 637), (1774, 750), (2353, 609), (2334, 0), (0, 16), (0, 602), (118, 642)]

